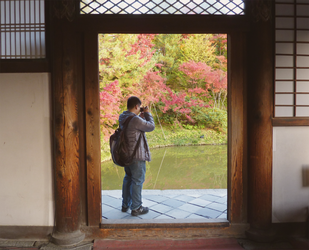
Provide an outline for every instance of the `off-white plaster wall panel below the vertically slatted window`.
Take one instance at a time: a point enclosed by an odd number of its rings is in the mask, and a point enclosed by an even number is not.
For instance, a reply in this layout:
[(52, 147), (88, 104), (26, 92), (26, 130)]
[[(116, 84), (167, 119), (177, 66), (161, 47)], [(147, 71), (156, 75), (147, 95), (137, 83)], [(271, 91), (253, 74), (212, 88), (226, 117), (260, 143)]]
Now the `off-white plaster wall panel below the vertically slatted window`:
[(53, 225), (49, 73), (0, 74), (0, 225)]

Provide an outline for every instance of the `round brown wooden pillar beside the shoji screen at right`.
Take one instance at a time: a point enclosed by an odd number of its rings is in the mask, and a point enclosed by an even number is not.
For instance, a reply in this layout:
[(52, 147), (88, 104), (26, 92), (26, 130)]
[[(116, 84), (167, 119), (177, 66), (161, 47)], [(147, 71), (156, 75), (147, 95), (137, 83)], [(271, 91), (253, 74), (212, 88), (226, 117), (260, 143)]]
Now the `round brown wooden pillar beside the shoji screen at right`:
[[(268, 0), (262, 2), (267, 3)], [(273, 27), (254, 8), (248, 34), (248, 222), (246, 235), (272, 241)], [(259, 2), (260, 3), (260, 2)], [(269, 15), (270, 15), (269, 6)]]

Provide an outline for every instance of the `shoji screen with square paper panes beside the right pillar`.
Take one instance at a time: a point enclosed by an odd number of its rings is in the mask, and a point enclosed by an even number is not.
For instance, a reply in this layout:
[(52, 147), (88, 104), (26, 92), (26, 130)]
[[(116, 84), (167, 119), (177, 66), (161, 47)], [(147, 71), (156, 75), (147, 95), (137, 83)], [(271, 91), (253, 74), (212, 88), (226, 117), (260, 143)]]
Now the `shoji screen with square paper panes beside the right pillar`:
[(309, 0), (276, 0), (275, 117), (309, 116)]

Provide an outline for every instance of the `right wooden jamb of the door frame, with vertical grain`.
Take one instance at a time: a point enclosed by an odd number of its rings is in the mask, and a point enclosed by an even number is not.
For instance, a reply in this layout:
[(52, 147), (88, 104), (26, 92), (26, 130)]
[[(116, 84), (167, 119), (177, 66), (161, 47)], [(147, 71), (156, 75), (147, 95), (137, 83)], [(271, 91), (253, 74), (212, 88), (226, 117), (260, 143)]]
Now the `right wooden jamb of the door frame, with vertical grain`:
[(228, 36), (228, 218), (243, 214), (243, 34)]

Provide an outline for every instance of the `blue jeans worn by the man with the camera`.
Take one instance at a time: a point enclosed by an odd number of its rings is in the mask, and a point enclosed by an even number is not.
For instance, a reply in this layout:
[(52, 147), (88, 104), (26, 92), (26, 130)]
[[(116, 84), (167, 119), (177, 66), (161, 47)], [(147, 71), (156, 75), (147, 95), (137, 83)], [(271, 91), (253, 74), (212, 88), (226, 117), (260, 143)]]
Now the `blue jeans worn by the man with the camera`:
[(145, 181), (146, 161), (133, 161), (125, 168), (122, 184), (122, 206), (136, 210), (142, 205), (142, 188)]

